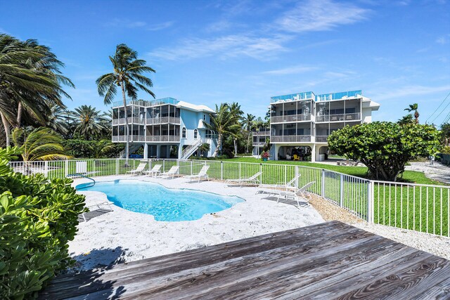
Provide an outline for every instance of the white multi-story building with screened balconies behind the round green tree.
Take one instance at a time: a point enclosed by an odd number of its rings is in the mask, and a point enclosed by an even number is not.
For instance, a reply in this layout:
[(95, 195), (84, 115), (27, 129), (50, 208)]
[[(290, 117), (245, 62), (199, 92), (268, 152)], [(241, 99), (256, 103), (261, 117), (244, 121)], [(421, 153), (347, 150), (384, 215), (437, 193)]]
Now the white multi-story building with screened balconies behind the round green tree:
[[(315, 95), (313, 92), (271, 97), (271, 159), (322, 161), (328, 136), (346, 125), (372, 121), (380, 105), (362, 91)], [(255, 141), (255, 140), (254, 140)], [(254, 147), (259, 147), (259, 144)], [(255, 152), (254, 152), (255, 154)]]

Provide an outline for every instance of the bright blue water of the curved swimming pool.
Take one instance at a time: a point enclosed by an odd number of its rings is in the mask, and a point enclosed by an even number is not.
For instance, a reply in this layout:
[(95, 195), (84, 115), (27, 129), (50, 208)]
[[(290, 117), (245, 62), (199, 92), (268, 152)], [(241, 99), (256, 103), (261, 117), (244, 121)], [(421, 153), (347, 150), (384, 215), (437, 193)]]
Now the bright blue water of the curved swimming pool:
[(229, 209), (244, 200), (236, 196), (222, 196), (199, 190), (165, 188), (158, 183), (134, 180), (98, 182), (84, 188), (105, 193), (108, 200), (129, 211), (151, 214), (156, 221), (193, 221), (204, 214)]

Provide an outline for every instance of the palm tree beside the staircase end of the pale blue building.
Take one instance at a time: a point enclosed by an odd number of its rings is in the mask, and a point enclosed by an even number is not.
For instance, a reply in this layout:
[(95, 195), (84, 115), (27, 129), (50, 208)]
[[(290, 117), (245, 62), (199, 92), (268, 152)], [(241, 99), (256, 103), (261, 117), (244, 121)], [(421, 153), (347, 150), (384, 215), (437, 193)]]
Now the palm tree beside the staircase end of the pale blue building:
[(231, 134), (233, 136), (236, 131), (240, 129), (236, 115), (233, 115), (229, 110), (229, 105), (221, 103), (220, 107), (216, 104), (216, 113), (211, 116), (211, 123), (205, 125), (207, 129), (215, 131), (217, 133), (217, 148), (214, 150), (212, 157), (216, 157), (219, 150), (222, 149), (224, 136)]

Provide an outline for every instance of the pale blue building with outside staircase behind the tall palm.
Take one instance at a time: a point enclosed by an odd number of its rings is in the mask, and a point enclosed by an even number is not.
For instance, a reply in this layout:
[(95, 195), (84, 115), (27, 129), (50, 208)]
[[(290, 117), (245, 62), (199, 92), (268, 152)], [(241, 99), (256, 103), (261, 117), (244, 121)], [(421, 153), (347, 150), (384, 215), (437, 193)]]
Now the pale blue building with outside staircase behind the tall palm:
[[(217, 147), (217, 138), (207, 129), (214, 110), (174, 98), (130, 100), (127, 103), (129, 143), (132, 153), (143, 147), (144, 158), (187, 159), (203, 143), (210, 144), (207, 156)], [(113, 103), (113, 143), (125, 143), (123, 102)]]

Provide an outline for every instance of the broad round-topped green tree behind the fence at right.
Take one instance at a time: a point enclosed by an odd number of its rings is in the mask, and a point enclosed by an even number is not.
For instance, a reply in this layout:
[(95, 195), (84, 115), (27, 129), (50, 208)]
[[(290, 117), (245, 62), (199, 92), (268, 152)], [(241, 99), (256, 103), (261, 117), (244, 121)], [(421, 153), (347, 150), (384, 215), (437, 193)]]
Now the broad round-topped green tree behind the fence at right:
[(372, 178), (385, 181), (396, 181), (409, 160), (434, 155), (439, 144), (433, 126), (392, 122), (345, 126), (328, 137), (330, 150), (363, 162)]

